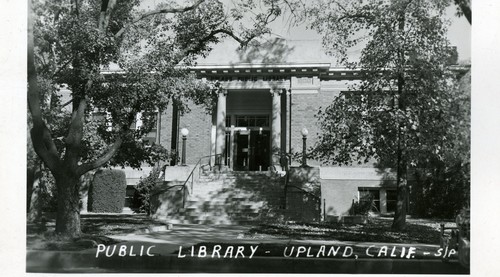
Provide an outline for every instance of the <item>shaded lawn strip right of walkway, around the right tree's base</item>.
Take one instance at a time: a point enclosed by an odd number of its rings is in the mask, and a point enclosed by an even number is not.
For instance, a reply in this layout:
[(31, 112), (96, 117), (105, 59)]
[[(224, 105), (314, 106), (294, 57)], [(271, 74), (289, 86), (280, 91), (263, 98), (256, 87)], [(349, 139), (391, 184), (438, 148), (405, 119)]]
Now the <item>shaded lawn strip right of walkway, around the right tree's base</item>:
[(436, 227), (407, 223), (406, 230), (391, 230), (392, 220), (371, 218), (368, 224), (297, 223), (262, 224), (249, 230), (250, 235), (268, 234), (292, 239), (318, 239), (384, 243), (439, 244), (440, 232)]

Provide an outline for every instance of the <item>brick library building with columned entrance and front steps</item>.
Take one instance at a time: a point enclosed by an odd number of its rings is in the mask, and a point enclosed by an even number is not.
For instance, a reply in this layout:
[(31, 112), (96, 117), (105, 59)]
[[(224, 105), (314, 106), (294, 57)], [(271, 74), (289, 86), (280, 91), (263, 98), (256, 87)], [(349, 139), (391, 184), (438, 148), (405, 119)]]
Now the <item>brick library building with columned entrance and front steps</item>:
[[(353, 215), (353, 206), (364, 199), (372, 202), (372, 213), (394, 212), (391, 169), (303, 158), (321, 134), (318, 111), (359, 82), (359, 72), (335, 66), (319, 41), (281, 43), (247, 55), (223, 45), (190, 68), (200, 79), (219, 82), (220, 89), (210, 113), (187, 103), (189, 112), (181, 114), (170, 104), (159, 115), (150, 139), (182, 158), (166, 167), (164, 184), (153, 197), (158, 217), (182, 210), (203, 222), (200, 215), (210, 212), (203, 207), (223, 205), (229, 217), (241, 208), (252, 211), (249, 217), (281, 210), (295, 220), (340, 220)], [(129, 185), (147, 172), (127, 171)], [(168, 195), (179, 184), (188, 191), (181, 208)], [(187, 214), (191, 204), (193, 212)]]

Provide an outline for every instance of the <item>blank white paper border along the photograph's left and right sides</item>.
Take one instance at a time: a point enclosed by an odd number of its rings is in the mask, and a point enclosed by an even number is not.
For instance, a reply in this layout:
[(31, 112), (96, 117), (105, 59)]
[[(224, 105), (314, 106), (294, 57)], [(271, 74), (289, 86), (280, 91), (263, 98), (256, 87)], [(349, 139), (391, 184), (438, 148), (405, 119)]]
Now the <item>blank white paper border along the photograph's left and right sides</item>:
[[(498, 276), (500, 3), (472, 2), (471, 273)], [(5, 276), (25, 275), (26, 10), (26, 1), (16, 0), (4, 0), (0, 8), (0, 268)]]

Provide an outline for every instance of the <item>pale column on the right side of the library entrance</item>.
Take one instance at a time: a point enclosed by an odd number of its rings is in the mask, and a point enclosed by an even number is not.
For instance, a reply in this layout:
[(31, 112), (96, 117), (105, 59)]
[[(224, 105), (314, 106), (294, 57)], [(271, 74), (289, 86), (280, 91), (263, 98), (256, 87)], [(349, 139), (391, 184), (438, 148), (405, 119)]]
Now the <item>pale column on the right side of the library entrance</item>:
[(281, 88), (272, 88), (271, 95), (273, 97), (272, 114), (271, 114), (271, 152), (272, 163), (278, 169), (280, 164), (281, 153)]

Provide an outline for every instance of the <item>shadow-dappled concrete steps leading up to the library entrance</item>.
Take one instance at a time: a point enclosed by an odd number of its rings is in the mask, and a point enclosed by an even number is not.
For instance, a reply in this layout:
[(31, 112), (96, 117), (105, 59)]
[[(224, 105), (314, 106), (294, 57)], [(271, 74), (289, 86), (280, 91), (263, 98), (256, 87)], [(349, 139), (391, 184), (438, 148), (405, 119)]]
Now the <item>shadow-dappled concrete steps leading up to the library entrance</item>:
[(279, 180), (268, 172), (204, 173), (193, 183), (185, 208), (166, 220), (179, 224), (254, 224), (267, 218), (264, 207), (279, 205), (282, 194)]

